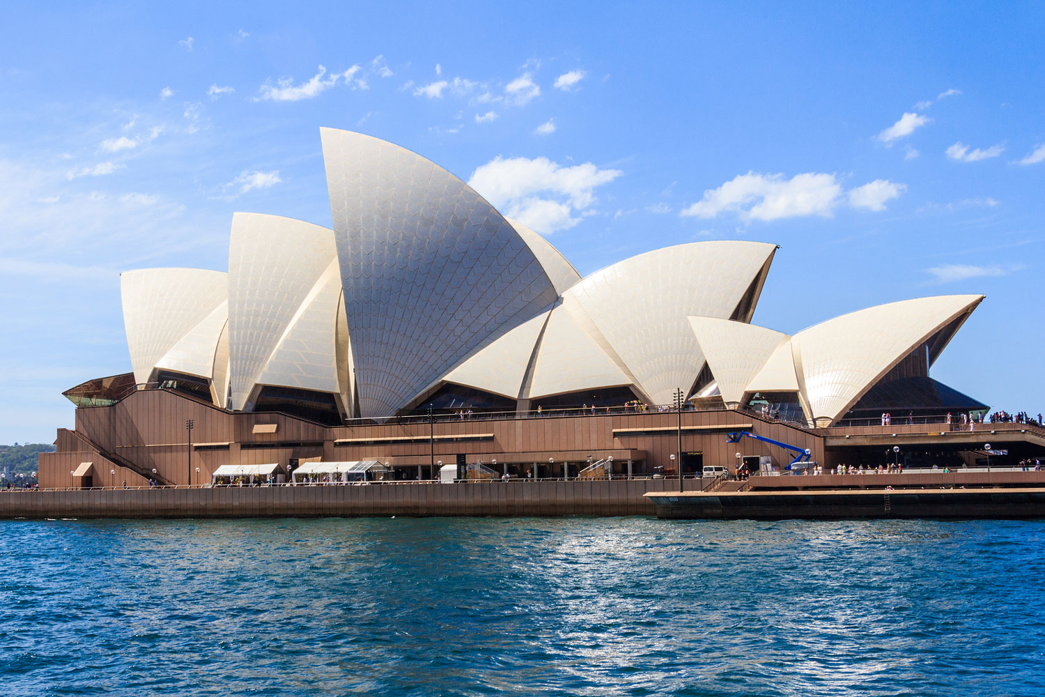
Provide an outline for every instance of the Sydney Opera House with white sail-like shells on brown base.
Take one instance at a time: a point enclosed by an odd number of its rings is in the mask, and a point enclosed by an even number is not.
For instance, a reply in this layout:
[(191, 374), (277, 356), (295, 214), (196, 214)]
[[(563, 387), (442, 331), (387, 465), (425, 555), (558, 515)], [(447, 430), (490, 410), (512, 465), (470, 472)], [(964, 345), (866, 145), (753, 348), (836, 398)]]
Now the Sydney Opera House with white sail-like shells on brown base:
[(462, 460), (541, 478), (608, 461), (637, 475), (787, 456), (725, 443), (738, 429), (825, 463), (881, 462), (904, 434), (912, 465), (982, 448), (958, 425), (988, 405), (929, 376), (982, 296), (788, 335), (750, 323), (775, 245), (678, 245), (582, 278), (423, 157), (321, 137), (332, 228), (236, 213), (228, 272), (122, 274), (131, 372), (65, 393), (76, 427), (42, 458), (42, 484), (367, 461), (409, 479)]

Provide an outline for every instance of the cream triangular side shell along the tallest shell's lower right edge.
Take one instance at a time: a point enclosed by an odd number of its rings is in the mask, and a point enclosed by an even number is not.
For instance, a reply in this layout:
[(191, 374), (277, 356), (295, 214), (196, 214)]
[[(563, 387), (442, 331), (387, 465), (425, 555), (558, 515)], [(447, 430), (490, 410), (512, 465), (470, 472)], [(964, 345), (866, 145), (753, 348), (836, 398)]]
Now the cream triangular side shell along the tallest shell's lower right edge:
[(548, 312), (528, 320), (466, 359), (446, 380), (517, 399)]

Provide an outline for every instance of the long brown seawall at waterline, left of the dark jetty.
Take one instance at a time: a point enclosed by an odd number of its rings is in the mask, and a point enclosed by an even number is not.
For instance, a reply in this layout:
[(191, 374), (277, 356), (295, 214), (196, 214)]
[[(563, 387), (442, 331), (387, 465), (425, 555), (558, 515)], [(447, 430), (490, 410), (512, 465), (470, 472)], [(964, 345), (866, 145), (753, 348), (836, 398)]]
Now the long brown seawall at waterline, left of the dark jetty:
[(0, 518), (654, 515), (644, 494), (677, 490), (677, 480), (11, 490), (0, 491)]

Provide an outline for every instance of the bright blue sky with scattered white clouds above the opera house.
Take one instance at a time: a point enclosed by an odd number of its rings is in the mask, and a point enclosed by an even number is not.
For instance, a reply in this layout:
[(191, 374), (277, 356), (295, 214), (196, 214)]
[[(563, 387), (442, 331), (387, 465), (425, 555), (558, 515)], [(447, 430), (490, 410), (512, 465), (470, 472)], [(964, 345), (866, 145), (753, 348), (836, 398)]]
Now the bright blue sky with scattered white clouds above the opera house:
[(329, 227), (321, 126), (446, 167), (582, 275), (775, 242), (780, 331), (983, 294), (931, 374), (1037, 414), (1043, 36), (1030, 2), (4, 3), (0, 443), (130, 371), (121, 272), (227, 270), (235, 211)]

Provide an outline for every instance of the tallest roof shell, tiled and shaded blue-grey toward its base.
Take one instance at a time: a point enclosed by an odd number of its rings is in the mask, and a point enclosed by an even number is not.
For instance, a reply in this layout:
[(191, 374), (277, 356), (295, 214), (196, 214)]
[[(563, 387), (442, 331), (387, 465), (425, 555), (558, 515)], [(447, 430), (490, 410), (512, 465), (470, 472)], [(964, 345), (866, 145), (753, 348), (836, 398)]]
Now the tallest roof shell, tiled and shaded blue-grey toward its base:
[(454, 175), (377, 138), (321, 136), (358, 412), (384, 418), (558, 292), (511, 224)]

